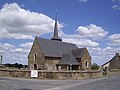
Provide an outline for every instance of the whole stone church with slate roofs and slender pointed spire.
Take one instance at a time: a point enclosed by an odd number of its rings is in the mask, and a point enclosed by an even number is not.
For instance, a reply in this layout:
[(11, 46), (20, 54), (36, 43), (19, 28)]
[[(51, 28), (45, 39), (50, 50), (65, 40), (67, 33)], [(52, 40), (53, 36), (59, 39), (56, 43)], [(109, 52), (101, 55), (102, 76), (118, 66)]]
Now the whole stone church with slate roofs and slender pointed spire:
[(62, 42), (58, 36), (57, 17), (51, 39), (36, 37), (28, 55), (30, 70), (86, 70), (91, 69), (87, 48)]

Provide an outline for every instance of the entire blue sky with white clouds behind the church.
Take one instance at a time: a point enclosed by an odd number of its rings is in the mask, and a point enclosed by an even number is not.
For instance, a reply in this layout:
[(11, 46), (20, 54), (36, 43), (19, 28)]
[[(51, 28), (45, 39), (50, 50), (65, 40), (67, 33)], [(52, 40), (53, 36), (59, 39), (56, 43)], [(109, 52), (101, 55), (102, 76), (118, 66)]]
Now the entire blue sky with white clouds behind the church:
[(3, 63), (27, 64), (35, 36), (52, 37), (56, 10), (63, 42), (87, 47), (92, 63), (120, 53), (120, 0), (0, 0)]

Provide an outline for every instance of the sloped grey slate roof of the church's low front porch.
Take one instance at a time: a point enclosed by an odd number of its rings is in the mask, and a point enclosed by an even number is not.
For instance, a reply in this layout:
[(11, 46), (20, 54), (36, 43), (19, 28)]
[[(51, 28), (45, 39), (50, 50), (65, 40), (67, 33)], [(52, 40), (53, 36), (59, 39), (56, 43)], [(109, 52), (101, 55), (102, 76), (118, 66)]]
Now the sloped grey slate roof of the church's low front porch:
[(71, 52), (63, 53), (57, 65), (80, 65)]

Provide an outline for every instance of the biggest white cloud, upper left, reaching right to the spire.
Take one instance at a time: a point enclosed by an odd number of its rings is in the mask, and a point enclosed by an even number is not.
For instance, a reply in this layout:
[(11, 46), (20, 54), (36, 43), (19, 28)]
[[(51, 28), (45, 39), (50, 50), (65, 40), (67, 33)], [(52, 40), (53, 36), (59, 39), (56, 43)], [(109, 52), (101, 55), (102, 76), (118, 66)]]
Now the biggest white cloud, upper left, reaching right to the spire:
[(17, 3), (5, 4), (0, 10), (0, 38), (33, 39), (33, 36), (51, 33), (53, 26), (54, 20), (50, 17), (25, 10)]

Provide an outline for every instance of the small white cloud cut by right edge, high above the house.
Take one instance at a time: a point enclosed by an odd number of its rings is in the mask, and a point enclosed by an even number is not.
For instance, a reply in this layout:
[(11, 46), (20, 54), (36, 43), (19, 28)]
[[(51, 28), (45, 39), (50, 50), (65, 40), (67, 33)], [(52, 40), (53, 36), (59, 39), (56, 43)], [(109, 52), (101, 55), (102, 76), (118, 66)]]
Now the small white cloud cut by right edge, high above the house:
[(119, 46), (120, 47), (120, 34), (113, 34), (108, 37), (109, 46)]

